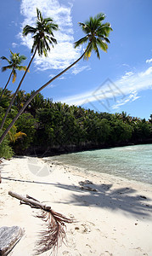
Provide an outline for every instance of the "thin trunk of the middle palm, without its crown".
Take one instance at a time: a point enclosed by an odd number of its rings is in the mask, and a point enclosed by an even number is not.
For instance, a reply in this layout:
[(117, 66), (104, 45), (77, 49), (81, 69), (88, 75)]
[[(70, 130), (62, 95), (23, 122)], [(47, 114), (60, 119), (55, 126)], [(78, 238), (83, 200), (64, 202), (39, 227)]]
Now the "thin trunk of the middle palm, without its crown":
[(20, 86), (21, 86), (21, 84), (23, 83), (23, 80), (25, 79), (25, 75), (26, 75), (26, 73), (28, 72), (28, 70), (29, 70), (29, 68), (30, 68), (30, 66), (31, 66), (31, 62), (32, 62), (33, 59), (34, 59), (34, 57), (35, 57), (35, 55), (36, 55), (36, 52), (37, 52), (37, 48), (35, 49), (35, 52), (34, 52), (34, 54), (32, 55), (31, 61), (30, 61), (29, 65), (28, 65), (28, 67), (26, 68), (25, 73), (24, 73), (22, 79), (20, 80), (20, 84), (19, 84), (18, 88), (17, 88), (16, 91), (14, 92), (14, 96), (13, 96), (13, 98), (12, 98), (12, 100), (11, 100), (9, 106), (8, 106), (8, 109), (7, 109), (7, 111), (6, 111), (5, 115), (4, 115), (4, 118), (3, 118), (3, 120), (2, 120), (0, 129), (3, 129), (3, 125), (4, 125), (4, 123), (5, 123), (5, 120), (6, 120), (7, 116), (8, 116), (9, 110), (10, 110), (10, 108), (12, 107), (12, 105), (13, 105), (13, 103), (14, 103), (14, 99), (15, 99), (15, 97), (16, 97), (18, 91), (20, 90)]

